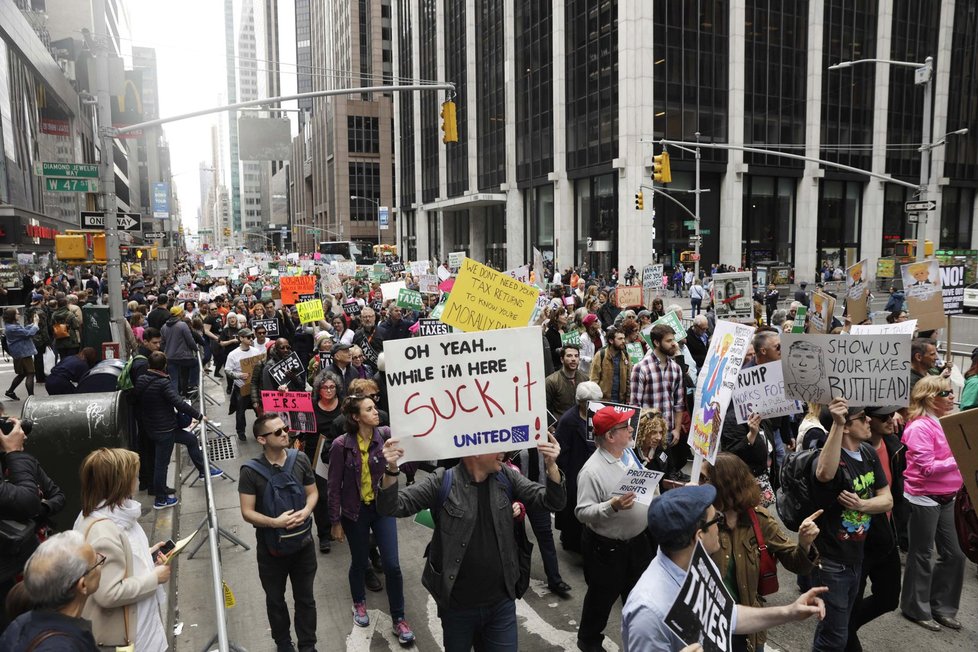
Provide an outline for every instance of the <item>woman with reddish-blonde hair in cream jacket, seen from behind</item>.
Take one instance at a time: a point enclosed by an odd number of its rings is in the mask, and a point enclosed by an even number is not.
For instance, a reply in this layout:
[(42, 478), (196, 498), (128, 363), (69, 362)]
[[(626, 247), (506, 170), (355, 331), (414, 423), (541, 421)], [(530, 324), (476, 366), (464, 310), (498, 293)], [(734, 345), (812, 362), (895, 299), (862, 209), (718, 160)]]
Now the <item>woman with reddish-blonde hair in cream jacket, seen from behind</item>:
[(122, 448), (99, 448), (81, 465), (82, 511), (74, 529), (105, 558), (98, 590), (82, 617), (92, 621), (100, 647), (134, 646), (139, 652), (167, 649), (160, 588), (170, 579), (166, 558), (152, 548), (133, 500), (139, 482), (139, 456)]

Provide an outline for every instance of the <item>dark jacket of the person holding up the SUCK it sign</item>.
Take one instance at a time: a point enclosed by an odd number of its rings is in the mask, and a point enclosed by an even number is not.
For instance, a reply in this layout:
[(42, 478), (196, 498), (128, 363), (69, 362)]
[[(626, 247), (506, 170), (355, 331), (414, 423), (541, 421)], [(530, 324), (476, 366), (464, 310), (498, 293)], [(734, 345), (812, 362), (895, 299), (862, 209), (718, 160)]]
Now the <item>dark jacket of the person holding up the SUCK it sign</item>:
[[(524, 478), (508, 466), (503, 466), (502, 472), (509, 476), (514, 501), (520, 501), (527, 508), (542, 507), (551, 512), (560, 511), (564, 507), (567, 490), (563, 472), (560, 482), (553, 482), (548, 476), (546, 486)], [(394, 484), (380, 489), (377, 494), (377, 511), (391, 516), (410, 516), (425, 508), (435, 507), (444, 474), (444, 469), (438, 469), (410, 487), (398, 489), (398, 485)], [(456, 466), (453, 475), (452, 487), (435, 523), (431, 548), (421, 574), (421, 583), (442, 608), (449, 606), (455, 577), (475, 530), (475, 519), (480, 516), (478, 489), (472, 485), (472, 476), (465, 465)], [(491, 483), (490, 501), (493, 510), (492, 514), (483, 514), (481, 517), (493, 519), (506, 590), (509, 597), (515, 600), (514, 587), (519, 579), (520, 567), (516, 539), (513, 536), (513, 509), (509, 496), (506, 495), (506, 488), (496, 477), (490, 476), (488, 482)]]

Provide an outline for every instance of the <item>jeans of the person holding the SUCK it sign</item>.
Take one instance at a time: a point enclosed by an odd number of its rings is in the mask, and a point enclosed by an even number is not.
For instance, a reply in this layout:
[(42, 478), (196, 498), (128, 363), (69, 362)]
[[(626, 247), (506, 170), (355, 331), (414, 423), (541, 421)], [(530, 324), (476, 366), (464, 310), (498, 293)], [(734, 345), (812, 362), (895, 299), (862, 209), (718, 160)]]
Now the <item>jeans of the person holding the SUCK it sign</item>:
[(516, 652), (516, 601), (506, 598), (490, 607), (439, 609), (445, 652), (469, 652), (481, 642), (485, 652)]

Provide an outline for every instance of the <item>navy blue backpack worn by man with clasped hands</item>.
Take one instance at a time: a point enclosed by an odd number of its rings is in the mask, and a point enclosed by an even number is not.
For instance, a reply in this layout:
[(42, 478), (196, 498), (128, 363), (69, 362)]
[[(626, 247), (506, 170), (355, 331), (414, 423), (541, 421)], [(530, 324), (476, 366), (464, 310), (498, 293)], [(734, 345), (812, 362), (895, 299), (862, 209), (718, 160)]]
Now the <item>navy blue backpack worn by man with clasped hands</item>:
[[(262, 496), (261, 509), (258, 511), (265, 516), (277, 518), (290, 509), (299, 511), (306, 506), (306, 489), (292, 475), (299, 451), (285, 451), (285, 465), (278, 473), (264, 466), (258, 460), (248, 460), (246, 467), (265, 478), (265, 494)], [(268, 546), (268, 551), (275, 557), (291, 555), (302, 549), (312, 536), (312, 517), (310, 516), (299, 527), (287, 530), (285, 528), (259, 528), (259, 536)]]

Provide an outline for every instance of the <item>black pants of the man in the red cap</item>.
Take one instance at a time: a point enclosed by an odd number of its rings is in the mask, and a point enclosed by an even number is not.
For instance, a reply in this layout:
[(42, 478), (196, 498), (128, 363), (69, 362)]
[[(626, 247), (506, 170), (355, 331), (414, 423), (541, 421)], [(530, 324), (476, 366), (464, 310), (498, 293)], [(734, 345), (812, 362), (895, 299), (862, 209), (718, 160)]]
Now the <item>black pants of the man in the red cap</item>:
[(577, 640), (598, 646), (604, 640), (611, 608), (619, 598), (622, 606), (625, 605), (632, 587), (652, 561), (652, 546), (644, 532), (628, 541), (614, 541), (585, 527), (581, 548), (587, 593)]

